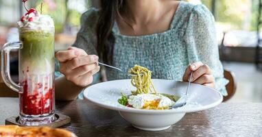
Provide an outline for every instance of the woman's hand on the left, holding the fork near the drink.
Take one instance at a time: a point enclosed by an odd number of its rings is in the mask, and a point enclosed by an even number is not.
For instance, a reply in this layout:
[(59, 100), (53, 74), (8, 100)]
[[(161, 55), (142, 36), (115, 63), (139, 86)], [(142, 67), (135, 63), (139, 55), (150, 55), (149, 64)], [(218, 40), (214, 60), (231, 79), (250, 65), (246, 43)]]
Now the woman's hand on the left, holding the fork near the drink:
[(85, 87), (91, 84), (93, 75), (100, 69), (97, 55), (87, 55), (83, 49), (76, 47), (58, 51), (56, 58), (60, 62), (60, 73), (77, 86)]

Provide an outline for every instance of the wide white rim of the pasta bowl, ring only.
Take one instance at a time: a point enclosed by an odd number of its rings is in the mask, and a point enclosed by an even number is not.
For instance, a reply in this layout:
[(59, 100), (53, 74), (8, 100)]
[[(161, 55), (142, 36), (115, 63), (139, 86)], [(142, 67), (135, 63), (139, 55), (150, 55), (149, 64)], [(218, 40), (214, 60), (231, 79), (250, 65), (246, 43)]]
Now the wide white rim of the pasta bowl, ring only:
[[(123, 80), (131, 80), (131, 79), (118, 79), (118, 80), (112, 80), (112, 81), (107, 81), (107, 82), (114, 82), (114, 81), (123, 81)], [(152, 79), (154, 80), (154, 79)], [(188, 83), (188, 82), (180, 82), (180, 81), (175, 81), (175, 80), (170, 80), (170, 79), (156, 79), (156, 80), (166, 80), (166, 81), (173, 81), (173, 82), (178, 82), (178, 83)], [(91, 97), (88, 97), (88, 89), (93, 88), (94, 86), (97, 86), (99, 84), (104, 84), (105, 82), (101, 82), (98, 84), (93, 84), (92, 86), (88, 86), (86, 88), (84, 88), (84, 92), (83, 92), (83, 96), (84, 99), (86, 99), (87, 101), (90, 101), (91, 103), (94, 103), (95, 105), (98, 105), (102, 108), (107, 108), (110, 110), (117, 110), (120, 112), (130, 112), (130, 113), (139, 113), (139, 114), (171, 114), (171, 113), (187, 113), (187, 112), (198, 112), (198, 111), (202, 111), (202, 110), (207, 110), (209, 108), (213, 108), (217, 105), (219, 105), (219, 103), (222, 103), (223, 101), (223, 96), (220, 92), (218, 92), (217, 90), (215, 90), (214, 88), (208, 87), (208, 86), (203, 86), (200, 84), (193, 84), (193, 85), (198, 85), (198, 86), (202, 86), (204, 88), (210, 88), (211, 90), (213, 90), (214, 92), (216, 92), (219, 95), (219, 99), (217, 99), (217, 101), (210, 103), (209, 105), (201, 105), (197, 108), (184, 108), (184, 109), (172, 109), (172, 110), (142, 110), (142, 109), (137, 109), (137, 108), (130, 108), (130, 107), (126, 107), (126, 106), (115, 106), (115, 105), (108, 105), (107, 103), (100, 103), (98, 101), (95, 101), (95, 99), (92, 99)]]

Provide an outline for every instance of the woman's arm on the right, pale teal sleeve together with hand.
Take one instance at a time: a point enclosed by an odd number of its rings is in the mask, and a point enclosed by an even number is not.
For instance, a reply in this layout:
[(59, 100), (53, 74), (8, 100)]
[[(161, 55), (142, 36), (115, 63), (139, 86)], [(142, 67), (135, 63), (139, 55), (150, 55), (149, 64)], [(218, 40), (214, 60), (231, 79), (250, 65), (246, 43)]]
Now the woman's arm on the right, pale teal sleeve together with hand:
[(187, 79), (190, 72), (194, 71), (193, 82), (211, 86), (222, 95), (227, 95), (227, 80), (224, 79), (223, 66), (219, 60), (215, 20), (204, 5), (193, 7), (185, 35), (189, 63), (193, 63), (195, 68), (189, 66), (183, 79)]

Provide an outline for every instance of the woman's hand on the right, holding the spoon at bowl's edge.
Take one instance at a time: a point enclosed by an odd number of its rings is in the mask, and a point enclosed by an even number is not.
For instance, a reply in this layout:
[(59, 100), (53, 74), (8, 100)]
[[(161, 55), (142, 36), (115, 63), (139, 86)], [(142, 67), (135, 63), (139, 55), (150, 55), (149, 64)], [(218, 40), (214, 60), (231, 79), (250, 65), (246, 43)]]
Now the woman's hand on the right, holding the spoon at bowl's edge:
[(215, 78), (213, 77), (212, 71), (208, 65), (203, 64), (202, 62), (190, 64), (184, 72), (183, 82), (189, 82), (192, 71), (193, 75), (191, 82), (215, 88)]

